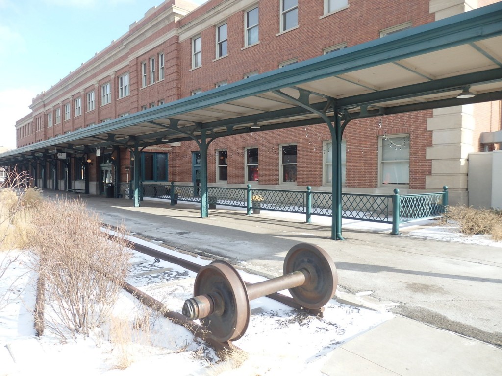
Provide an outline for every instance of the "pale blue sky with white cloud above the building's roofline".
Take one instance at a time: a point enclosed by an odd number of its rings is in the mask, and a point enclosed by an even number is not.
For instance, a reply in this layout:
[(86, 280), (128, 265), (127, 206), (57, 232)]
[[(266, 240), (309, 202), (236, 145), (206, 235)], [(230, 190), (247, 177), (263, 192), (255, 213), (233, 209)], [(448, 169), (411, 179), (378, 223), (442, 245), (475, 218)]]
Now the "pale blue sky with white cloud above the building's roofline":
[[(206, 0), (189, 0), (204, 4)], [(0, 0), (0, 146), (33, 97), (103, 50), (163, 0)]]

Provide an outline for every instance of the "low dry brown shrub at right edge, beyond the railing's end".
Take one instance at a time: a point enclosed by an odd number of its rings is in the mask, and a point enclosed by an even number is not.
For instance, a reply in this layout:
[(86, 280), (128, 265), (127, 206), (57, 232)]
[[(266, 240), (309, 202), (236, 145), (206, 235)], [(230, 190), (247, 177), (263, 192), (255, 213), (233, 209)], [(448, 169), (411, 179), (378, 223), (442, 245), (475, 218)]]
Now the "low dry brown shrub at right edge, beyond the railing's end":
[(458, 223), (466, 236), (486, 234), (495, 241), (502, 240), (502, 212), (493, 209), (474, 209), (466, 206), (450, 206), (446, 219)]

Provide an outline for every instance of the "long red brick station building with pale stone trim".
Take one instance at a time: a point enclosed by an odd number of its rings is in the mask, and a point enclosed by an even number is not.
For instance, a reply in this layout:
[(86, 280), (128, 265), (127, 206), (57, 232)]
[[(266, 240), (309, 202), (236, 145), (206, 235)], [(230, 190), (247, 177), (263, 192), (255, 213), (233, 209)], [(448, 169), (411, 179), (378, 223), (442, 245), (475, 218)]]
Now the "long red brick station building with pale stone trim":
[[(166, 1), (34, 98), (32, 113), (16, 124), (18, 147), (491, 3), (496, 1), (210, 0), (196, 8)], [(494, 147), (479, 138), (500, 129), (500, 112), (500, 102), (488, 102), (354, 120), (342, 143), (344, 190), (387, 194), (399, 187), (412, 193), (448, 185), (450, 202), (467, 204), (467, 154)], [(195, 182), (197, 151), (195, 142), (144, 150), (142, 179)], [(130, 155), (127, 149), (119, 153), (118, 176), (127, 181)], [(209, 146), (208, 181), (330, 192), (331, 155), (325, 124), (222, 137)], [(104, 183), (113, 180), (110, 161), (90, 158), (91, 193), (103, 193)], [(67, 177), (72, 186), (83, 179), (75, 163), (74, 176)], [(64, 173), (60, 169), (57, 179), (64, 180)]]

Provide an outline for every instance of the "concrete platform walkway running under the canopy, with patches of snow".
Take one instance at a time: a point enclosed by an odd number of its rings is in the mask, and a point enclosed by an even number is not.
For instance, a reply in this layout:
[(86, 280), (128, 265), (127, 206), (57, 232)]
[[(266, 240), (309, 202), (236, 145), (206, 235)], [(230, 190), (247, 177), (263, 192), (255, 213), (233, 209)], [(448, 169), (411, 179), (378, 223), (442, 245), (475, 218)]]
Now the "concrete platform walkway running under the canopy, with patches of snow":
[(333, 241), (329, 226), (315, 219), (303, 223), (301, 216), (246, 216), (218, 205), (201, 219), (198, 207), (189, 204), (143, 201), (133, 208), (126, 199), (81, 198), (103, 222), (124, 223), (135, 236), (267, 277), (282, 274), (284, 256), (297, 243), (325, 249), (338, 270), (339, 300), (398, 315), (336, 348), (323, 368), (328, 375), (500, 374), (500, 248), (392, 236), (387, 230), (342, 229), (346, 240)]

